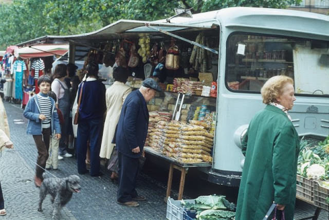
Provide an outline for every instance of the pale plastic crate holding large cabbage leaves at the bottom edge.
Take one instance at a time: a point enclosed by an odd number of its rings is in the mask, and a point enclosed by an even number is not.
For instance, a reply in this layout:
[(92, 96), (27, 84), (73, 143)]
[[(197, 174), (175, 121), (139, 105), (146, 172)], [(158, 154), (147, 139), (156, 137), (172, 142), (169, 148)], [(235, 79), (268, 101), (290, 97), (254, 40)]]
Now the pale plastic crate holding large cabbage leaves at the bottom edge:
[[(194, 199), (184, 200), (187, 203), (194, 203)], [(167, 201), (167, 219), (169, 220), (193, 220), (187, 215), (187, 212), (184, 210), (184, 207), (181, 205), (181, 200), (174, 200), (168, 197)]]

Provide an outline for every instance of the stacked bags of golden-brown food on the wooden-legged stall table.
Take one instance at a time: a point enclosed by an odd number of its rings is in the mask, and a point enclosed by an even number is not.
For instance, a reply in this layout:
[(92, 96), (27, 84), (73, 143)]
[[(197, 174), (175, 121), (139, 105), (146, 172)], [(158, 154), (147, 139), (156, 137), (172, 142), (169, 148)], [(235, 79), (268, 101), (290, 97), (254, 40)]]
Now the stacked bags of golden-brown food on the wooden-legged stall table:
[(178, 121), (159, 121), (149, 134), (149, 145), (162, 154), (173, 157), (180, 162), (211, 162), (213, 135), (204, 126)]

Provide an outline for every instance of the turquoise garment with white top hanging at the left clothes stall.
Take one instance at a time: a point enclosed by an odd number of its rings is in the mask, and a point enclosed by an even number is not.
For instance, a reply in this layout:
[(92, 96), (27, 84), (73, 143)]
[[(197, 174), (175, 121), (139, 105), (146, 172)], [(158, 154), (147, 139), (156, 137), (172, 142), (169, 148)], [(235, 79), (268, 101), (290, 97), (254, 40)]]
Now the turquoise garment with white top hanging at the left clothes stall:
[(23, 74), (26, 70), (25, 62), (21, 59), (16, 60), (13, 64), (14, 99), (23, 100)]

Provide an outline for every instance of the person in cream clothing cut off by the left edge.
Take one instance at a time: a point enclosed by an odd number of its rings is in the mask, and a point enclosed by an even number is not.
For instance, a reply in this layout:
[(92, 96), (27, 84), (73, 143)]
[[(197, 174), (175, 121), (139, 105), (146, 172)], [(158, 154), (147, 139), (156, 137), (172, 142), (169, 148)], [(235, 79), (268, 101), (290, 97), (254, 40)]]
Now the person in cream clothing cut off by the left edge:
[[(13, 148), (13, 143), (10, 141), (10, 132), (6, 109), (2, 98), (0, 97), (0, 157), (4, 148)], [(5, 200), (0, 183), (0, 215), (6, 215)]]

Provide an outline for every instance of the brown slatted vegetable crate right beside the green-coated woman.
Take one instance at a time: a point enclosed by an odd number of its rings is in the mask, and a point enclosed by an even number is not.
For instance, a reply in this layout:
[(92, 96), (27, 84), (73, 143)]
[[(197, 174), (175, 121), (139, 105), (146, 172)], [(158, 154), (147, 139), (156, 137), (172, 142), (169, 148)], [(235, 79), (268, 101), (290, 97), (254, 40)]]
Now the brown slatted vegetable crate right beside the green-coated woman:
[(314, 180), (297, 175), (296, 196), (309, 203), (313, 203)]

